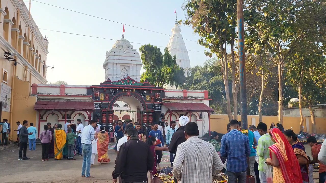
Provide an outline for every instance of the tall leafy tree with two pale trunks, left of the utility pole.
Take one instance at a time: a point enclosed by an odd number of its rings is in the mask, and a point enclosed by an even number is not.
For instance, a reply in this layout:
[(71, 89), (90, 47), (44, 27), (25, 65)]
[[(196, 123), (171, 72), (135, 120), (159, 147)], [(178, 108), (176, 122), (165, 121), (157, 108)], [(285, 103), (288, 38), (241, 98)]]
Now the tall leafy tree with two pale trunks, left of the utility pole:
[[(186, 25), (191, 25), (194, 32), (202, 38), (198, 43), (210, 51), (205, 51), (207, 56), (212, 57), (215, 53), (221, 61), (223, 82), (226, 93), (227, 114), (229, 120), (232, 120), (230, 92), (229, 92), (229, 69), (226, 47), (231, 44), (232, 69), (234, 64), (234, 40), (236, 38), (236, 2), (233, 0), (189, 0), (185, 5), (186, 14), (189, 19), (185, 21)], [(235, 73), (235, 72), (232, 72)], [(237, 118), (237, 95), (235, 76), (232, 75), (233, 104), (235, 106), (234, 117)]]

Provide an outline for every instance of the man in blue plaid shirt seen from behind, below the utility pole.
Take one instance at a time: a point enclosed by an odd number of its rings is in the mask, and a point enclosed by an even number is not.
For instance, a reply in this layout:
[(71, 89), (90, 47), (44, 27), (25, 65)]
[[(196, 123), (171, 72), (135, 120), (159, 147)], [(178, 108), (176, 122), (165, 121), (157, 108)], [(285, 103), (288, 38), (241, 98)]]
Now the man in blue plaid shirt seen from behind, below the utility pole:
[(249, 138), (241, 133), (239, 122), (230, 121), (231, 131), (223, 135), (221, 140), (221, 156), (227, 158), (229, 183), (245, 183), (247, 157), (250, 155)]

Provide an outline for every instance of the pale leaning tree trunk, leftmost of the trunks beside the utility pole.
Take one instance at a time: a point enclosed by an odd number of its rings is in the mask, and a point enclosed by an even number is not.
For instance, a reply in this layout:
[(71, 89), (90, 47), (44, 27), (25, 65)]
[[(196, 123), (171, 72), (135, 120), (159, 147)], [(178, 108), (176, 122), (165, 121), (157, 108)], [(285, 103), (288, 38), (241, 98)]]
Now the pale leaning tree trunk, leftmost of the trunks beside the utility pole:
[[(231, 112), (231, 102), (230, 102), (230, 89), (229, 89), (229, 74), (228, 74), (228, 58), (226, 51), (224, 52), (223, 43), (221, 35), (219, 35), (219, 42), (220, 42), (220, 52), (221, 52), (221, 64), (222, 64), (222, 73), (223, 73), (223, 81), (225, 86), (225, 96), (227, 100), (227, 114), (229, 117), (229, 121), (233, 120), (232, 112)], [(226, 45), (226, 42), (225, 42)], [(223, 58), (224, 56), (224, 58)]]

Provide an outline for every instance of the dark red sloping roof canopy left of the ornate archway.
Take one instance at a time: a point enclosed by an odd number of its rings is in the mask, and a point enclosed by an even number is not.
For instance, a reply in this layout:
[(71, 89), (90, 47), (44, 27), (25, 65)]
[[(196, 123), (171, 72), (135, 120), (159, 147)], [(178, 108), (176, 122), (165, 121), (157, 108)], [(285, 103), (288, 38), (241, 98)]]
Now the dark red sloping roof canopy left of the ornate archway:
[(60, 110), (94, 110), (94, 102), (54, 102), (54, 101), (37, 101), (34, 110), (60, 109)]

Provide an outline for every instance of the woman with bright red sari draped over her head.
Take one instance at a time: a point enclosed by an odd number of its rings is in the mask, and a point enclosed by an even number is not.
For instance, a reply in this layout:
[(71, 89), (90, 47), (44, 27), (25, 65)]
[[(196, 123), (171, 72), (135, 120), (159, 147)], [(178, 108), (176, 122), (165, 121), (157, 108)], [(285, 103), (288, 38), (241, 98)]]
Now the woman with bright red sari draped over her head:
[(272, 159), (267, 158), (266, 163), (273, 166), (273, 183), (301, 183), (299, 162), (288, 140), (278, 128), (269, 134), (275, 144), (269, 147)]

